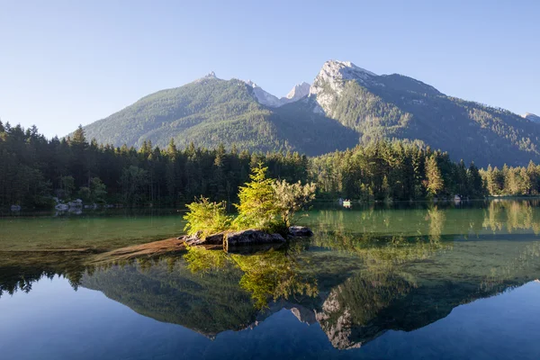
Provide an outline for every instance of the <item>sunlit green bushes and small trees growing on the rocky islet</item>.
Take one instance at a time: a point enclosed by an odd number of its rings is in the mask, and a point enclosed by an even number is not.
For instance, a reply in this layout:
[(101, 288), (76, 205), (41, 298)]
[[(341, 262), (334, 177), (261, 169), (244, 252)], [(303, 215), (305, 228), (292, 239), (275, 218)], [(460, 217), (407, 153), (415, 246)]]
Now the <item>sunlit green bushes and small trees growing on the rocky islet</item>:
[(210, 202), (201, 197), (188, 204), (189, 211), (184, 215), (187, 234), (204, 238), (225, 230), (286, 232), (295, 213), (315, 199), (316, 185), (267, 178), (267, 171), (268, 167), (259, 163), (249, 175), (251, 181), (239, 187), (240, 201), (234, 204), (238, 215), (234, 220), (227, 215), (225, 202)]

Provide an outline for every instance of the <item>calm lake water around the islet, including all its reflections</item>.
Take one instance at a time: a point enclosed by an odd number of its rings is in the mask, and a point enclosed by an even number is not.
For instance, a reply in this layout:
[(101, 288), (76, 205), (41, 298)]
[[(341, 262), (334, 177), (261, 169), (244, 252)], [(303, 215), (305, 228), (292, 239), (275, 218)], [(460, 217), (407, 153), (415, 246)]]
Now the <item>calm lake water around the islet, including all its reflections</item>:
[(287, 246), (100, 263), (181, 213), (4, 214), (0, 358), (540, 358), (538, 201), (308, 215)]

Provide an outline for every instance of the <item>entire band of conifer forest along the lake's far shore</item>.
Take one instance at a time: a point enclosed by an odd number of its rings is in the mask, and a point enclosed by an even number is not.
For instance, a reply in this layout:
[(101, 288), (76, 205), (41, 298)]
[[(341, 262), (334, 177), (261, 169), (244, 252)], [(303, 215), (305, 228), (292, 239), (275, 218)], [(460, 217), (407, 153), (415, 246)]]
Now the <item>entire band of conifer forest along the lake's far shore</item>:
[(85, 203), (179, 206), (204, 195), (236, 202), (238, 186), (263, 162), (268, 175), (289, 182), (314, 181), (319, 198), (422, 200), (459, 194), (540, 193), (540, 166), (488, 167), (455, 163), (419, 143), (376, 141), (320, 157), (298, 153), (250, 153), (234, 146), (139, 149), (88, 142), (79, 127), (66, 139), (46, 139), (36, 127), (0, 122), (0, 206), (46, 208), (76, 198)]

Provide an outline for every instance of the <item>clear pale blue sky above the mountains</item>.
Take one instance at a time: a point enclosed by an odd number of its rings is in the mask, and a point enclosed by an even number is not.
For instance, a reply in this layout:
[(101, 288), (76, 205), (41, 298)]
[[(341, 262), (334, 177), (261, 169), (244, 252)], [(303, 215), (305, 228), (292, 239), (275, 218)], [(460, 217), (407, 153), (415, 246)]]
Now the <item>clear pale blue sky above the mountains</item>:
[(0, 119), (62, 136), (211, 70), (281, 96), (330, 58), (540, 114), (540, 1), (0, 0)]

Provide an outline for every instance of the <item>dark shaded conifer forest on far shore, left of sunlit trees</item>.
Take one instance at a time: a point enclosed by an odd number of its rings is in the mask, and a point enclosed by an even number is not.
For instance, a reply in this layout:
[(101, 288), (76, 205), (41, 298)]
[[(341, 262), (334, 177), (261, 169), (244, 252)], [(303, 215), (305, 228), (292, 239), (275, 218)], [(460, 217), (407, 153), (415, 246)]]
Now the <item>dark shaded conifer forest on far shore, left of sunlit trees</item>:
[(35, 127), (24, 130), (0, 122), (0, 206), (49, 207), (53, 197), (176, 206), (202, 194), (230, 203), (260, 161), (272, 177), (307, 181), (308, 158), (298, 153), (249, 153), (193, 144), (180, 150), (172, 140), (164, 149), (146, 141), (139, 149), (114, 148), (88, 142), (81, 127), (66, 139), (48, 140)]

